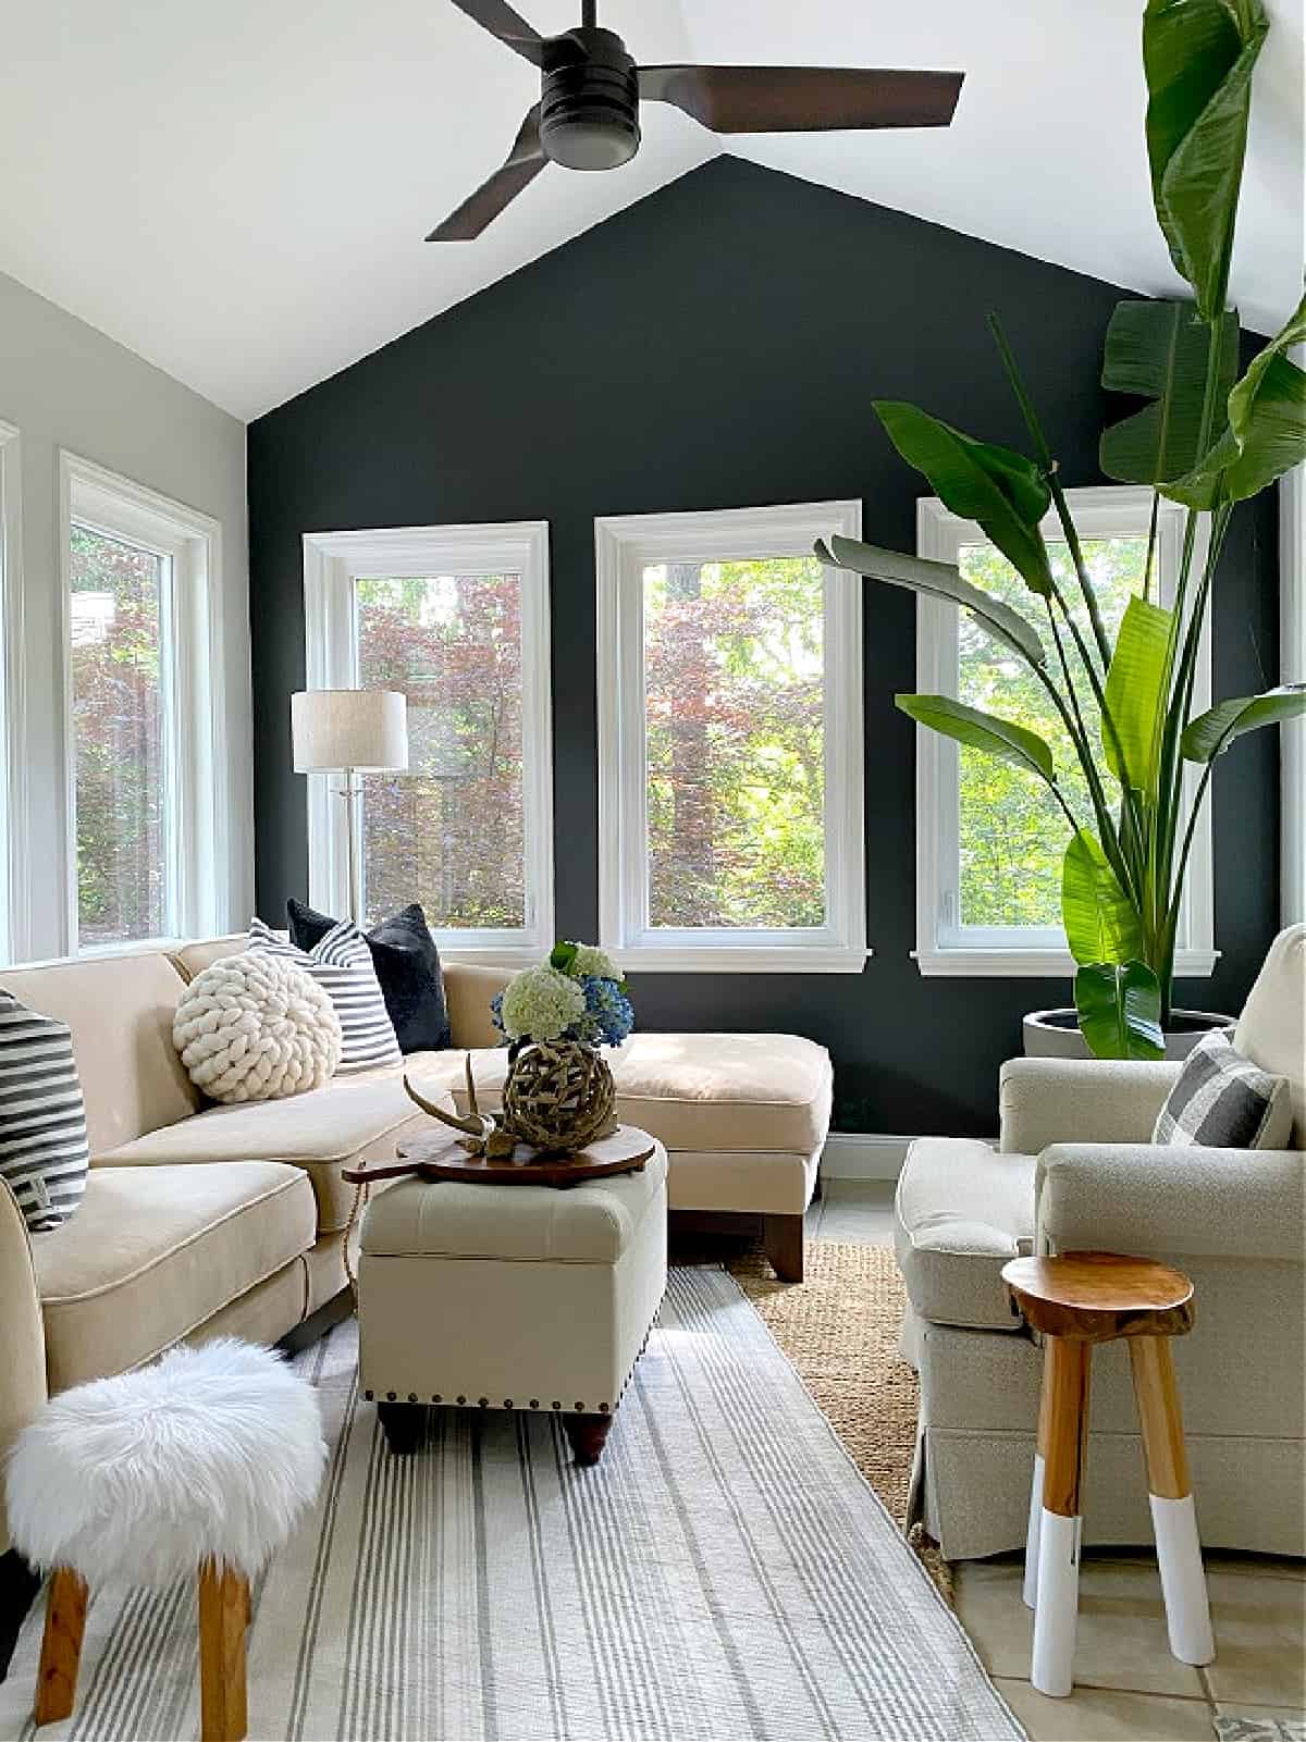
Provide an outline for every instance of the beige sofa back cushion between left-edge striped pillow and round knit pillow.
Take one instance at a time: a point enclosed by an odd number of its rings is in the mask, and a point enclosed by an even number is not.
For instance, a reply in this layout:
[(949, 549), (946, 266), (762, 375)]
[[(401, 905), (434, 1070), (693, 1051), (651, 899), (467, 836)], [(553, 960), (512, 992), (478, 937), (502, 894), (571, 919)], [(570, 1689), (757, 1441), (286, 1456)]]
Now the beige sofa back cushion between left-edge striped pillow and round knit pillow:
[(172, 1045), (185, 991), (162, 955), (87, 956), (42, 969), (5, 969), (5, 989), (73, 1033), (91, 1153), (188, 1118), (200, 1092)]

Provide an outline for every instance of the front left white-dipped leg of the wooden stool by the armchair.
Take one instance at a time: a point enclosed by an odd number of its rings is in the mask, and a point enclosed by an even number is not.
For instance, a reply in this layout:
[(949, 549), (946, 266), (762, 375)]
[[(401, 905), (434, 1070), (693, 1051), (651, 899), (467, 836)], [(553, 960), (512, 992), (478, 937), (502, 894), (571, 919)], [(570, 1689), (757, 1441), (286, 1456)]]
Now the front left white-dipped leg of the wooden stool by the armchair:
[(1092, 1347), (1064, 1336), (1047, 1340), (1043, 1367), (1047, 1420), (1043, 1509), (1038, 1521), (1038, 1604), (1029, 1679), (1040, 1693), (1064, 1698), (1074, 1685), (1074, 1631), (1080, 1611), (1080, 1489), (1088, 1448)]

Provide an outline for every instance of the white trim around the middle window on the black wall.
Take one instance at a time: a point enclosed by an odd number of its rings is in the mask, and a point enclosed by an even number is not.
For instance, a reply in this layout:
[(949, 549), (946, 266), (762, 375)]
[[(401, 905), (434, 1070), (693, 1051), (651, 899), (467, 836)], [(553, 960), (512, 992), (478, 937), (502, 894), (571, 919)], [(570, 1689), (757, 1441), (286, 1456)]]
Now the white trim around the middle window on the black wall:
[(827, 923), (810, 930), (672, 930), (646, 923), (643, 570), (669, 561), (811, 556), (831, 531), (858, 538), (860, 502), (594, 523), (599, 690), (599, 939), (623, 969), (712, 974), (860, 974), (865, 944), (862, 831), (862, 585), (825, 573)]

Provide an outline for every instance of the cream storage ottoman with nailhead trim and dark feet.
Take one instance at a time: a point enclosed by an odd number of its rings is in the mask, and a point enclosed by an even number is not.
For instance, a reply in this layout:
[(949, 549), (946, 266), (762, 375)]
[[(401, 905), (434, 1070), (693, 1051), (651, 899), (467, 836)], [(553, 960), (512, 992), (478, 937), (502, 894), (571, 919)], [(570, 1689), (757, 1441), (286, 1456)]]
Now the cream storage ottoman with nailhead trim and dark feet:
[(392, 1451), (425, 1409), (547, 1409), (596, 1463), (667, 1286), (667, 1151), (566, 1190), (401, 1179), (362, 1221), (359, 1380)]

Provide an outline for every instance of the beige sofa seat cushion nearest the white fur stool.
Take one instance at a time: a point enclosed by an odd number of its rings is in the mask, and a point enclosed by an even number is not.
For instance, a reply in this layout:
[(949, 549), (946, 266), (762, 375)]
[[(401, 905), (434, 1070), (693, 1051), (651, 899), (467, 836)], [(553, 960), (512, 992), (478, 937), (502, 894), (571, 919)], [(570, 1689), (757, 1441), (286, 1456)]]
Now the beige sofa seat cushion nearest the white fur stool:
[(31, 1237), (50, 1392), (150, 1361), (313, 1244), (294, 1167), (99, 1167)]

